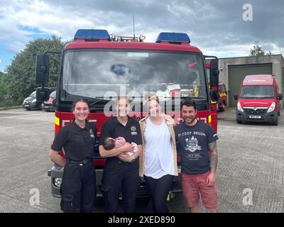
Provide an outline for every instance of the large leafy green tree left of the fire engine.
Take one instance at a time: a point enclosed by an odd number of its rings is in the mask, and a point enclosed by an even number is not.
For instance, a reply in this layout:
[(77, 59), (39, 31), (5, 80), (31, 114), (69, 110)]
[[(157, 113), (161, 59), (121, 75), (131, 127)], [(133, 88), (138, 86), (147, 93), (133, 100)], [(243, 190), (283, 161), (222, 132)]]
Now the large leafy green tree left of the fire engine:
[[(7, 99), (11, 104), (21, 104), (23, 99), (31, 94), (38, 84), (35, 84), (36, 55), (45, 51), (61, 51), (64, 47), (60, 38), (54, 35), (52, 38), (38, 38), (26, 45), (12, 60), (11, 65), (6, 67), (5, 81), (7, 84)], [(60, 57), (50, 56), (50, 79), (48, 86), (55, 87), (58, 79)]]

